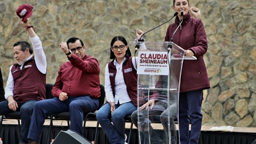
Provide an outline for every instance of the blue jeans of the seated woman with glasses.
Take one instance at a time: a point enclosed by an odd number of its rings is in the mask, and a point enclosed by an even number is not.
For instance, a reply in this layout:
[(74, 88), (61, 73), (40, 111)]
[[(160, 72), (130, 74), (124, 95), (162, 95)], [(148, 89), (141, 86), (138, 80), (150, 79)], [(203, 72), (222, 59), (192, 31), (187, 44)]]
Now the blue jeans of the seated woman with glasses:
[[(106, 103), (97, 112), (97, 120), (106, 132), (111, 144), (124, 144), (125, 142), (125, 120), (124, 118), (131, 115), (137, 107), (130, 102), (121, 105), (116, 104), (116, 110), (111, 116), (110, 104)], [(111, 117), (113, 124), (109, 120)]]

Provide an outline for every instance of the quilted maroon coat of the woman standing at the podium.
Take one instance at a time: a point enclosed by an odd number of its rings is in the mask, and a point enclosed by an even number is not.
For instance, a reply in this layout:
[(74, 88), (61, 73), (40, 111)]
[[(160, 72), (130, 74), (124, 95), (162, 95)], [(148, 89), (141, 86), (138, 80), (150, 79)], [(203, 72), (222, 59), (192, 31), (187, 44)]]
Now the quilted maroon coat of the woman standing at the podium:
[[(165, 41), (170, 41), (175, 29), (179, 25), (179, 17), (176, 16), (175, 23), (170, 24)], [(184, 60), (181, 71), (180, 92), (199, 89), (209, 89), (210, 83), (203, 61), (203, 55), (207, 51), (207, 38), (201, 20), (196, 20), (188, 13), (173, 37), (173, 42), (185, 50), (191, 50), (197, 60)]]

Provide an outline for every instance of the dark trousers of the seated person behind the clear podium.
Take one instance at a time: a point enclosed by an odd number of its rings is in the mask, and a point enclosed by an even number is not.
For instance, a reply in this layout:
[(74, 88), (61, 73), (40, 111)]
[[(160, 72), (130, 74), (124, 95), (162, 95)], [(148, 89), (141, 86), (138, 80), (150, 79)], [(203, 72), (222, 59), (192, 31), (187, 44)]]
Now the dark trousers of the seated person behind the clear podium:
[[(171, 143), (176, 144), (177, 132), (174, 119), (177, 117), (177, 104), (175, 102), (170, 103), (169, 110), (167, 109), (168, 103), (166, 100), (157, 101), (151, 109), (151, 106), (147, 110), (139, 110), (139, 126), (140, 133), (142, 133), (151, 144), (164, 144), (169, 143), (169, 128), (168, 128), (168, 111), (170, 113), (170, 131), (171, 131)], [(162, 140), (158, 133), (154, 131), (151, 126), (151, 121), (154, 117), (160, 117), (160, 121), (165, 131), (165, 140)], [(138, 110), (132, 113), (132, 121), (138, 128)], [(139, 134), (140, 135), (140, 134)]]

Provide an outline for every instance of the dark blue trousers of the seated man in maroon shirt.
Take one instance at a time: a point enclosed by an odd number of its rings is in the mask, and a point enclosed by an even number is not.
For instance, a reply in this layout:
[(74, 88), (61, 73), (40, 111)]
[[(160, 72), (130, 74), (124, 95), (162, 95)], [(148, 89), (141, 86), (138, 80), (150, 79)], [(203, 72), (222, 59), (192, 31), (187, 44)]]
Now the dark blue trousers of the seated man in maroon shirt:
[(69, 97), (64, 101), (59, 98), (38, 101), (34, 106), (28, 138), (39, 142), (45, 118), (61, 112), (70, 112), (70, 129), (82, 135), (84, 113), (95, 112), (98, 105), (98, 99), (90, 96)]

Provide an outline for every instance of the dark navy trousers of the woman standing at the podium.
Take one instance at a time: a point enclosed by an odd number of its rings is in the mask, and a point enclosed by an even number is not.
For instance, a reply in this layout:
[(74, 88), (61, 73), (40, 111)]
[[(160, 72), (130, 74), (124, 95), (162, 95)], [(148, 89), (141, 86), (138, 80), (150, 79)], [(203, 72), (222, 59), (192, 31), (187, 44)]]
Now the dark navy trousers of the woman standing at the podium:
[[(203, 90), (180, 93), (179, 96), (179, 127), (181, 144), (198, 144), (202, 127), (201, 113)], [(191, 133), (189, 137), (189, 117)]]

